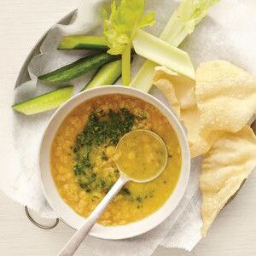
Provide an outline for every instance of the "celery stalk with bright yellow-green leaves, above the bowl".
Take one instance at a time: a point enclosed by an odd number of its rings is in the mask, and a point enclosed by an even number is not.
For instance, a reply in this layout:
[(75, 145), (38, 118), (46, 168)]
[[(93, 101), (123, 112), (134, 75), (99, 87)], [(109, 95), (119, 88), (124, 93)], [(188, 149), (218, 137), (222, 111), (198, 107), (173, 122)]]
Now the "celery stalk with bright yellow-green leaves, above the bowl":
[(122, 55), (123, 84), (129, 85), (131, 82), (131, 42), (134, 33), (137, 28), (153, 26), (154, 13), (145, 14), (145, 0), (112, 0), (110, 13), (107, 9), (103, 9), (102, 13), (103, 34), (109, 48), (108, 53)]

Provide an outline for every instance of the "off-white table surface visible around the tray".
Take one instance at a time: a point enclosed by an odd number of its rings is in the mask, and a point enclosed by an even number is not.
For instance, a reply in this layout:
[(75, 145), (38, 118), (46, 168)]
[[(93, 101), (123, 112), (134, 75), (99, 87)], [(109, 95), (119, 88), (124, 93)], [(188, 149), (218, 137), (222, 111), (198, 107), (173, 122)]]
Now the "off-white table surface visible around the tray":
[[(13, 87), (26, 55), (38, 38), (62, 16), (75, 9), (72, 0), (0, 1), (0, 86)], [(0, 121), (1, 122), (1, 121)], [(1, 125), (1, 123), (0, 123)], [(0, 158), (4, 152), (0, 152)], [(1, 169), (4, 166), (1, 166)], [(1, 171), (0, 171), (1, 172)], [(207, 239), (193, 252), (158, 248), (158, 255), (256, 255), (256, 173), (212, 225)], [(60, 224), (44, 231), (26, 219), (23, 207), (0, 192), (0, 255), (56, 255), (73, 230)], [(93, 255), (86, 245), (77, 255)]]

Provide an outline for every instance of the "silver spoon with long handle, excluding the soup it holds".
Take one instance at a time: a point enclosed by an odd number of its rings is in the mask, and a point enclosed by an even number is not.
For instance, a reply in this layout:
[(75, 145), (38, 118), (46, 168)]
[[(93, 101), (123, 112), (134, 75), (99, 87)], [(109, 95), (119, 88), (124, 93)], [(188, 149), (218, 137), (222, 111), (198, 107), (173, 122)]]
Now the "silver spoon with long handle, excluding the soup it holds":
[(159, 177), (160, 174), (165, 170), (166, 164), (167, 164), (166, 144), (163, 142), (163, 140), (157, 134), (155, 134), (152, 131), (136, 130), (136, 131), (131, 131), (131, 132), (127, 133), (119, 141), (117, 150), (119, 150), (119, 148), (122, 148), (125, 145), (125, 143), (127, 143), (127, 140), (129, 140), (129, 139), (132, 139), (132, 143), (133, 144), (135, 143), (137, 147), (140, 147), (141, 146), (139, 144), (140, 142), (136, 141), (136, 140), (139, 139), (142, 134), (145, 134), (146, 136), (151, 137), (151, 139), (154, 138), (154, 140), (159, 143), (161, 149), (163, 150), (164, 161), (159, 166), (159, 169), (157, 170), (157, 172), (154, 172), (153, 177), (144, 177), (144, 179), (129, 177), (127, 174), (125, 174), (125, 170), (121, 170), (120, 165), (119, 165), (120, 162), (118, 160), (117, 166), (118, 166), (119, 172), (120, 172), (119, 179), (113, 185), (112, 189), (109, 190), (108, 194), (97, 205), (95, 210), (90, 213), (90, 216), (86, 219), (84, 225), (67, 242), (67, 245), (62, 248), (61, 252), (58, 254), (59, 256), (70, 256), (70, 255), (73, 255), (77, 251), (81, 242), (84, 241), (85, 236), (88, 235), (88, 233), (90, 232), (90, 230), (92, 229), (94, 224), (96, 224), (97, 219), (102, 216), (102, 213), (106, 210), (109, 203), (113, 200), (113, 197), (119, 193), (119, 190), (122, 189), (122, 187), (125, 185), (125, 183), (127, 183), (128, 181), (134, 181), (136, 183), (147, 183), (149, 181), (152, 181), (154, 178)]

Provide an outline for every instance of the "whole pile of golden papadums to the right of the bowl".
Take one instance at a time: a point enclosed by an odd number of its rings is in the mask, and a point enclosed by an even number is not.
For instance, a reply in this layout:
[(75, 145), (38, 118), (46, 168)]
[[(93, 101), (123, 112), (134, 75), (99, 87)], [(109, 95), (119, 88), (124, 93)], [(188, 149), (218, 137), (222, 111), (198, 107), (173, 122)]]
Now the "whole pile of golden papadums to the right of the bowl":
[(195, 80), (156, 67), (156, 85), (183, 121), (191, 156), (203, 154), (202, 236), (256, 166), (256, 79), (228, 61), (201, 63)]

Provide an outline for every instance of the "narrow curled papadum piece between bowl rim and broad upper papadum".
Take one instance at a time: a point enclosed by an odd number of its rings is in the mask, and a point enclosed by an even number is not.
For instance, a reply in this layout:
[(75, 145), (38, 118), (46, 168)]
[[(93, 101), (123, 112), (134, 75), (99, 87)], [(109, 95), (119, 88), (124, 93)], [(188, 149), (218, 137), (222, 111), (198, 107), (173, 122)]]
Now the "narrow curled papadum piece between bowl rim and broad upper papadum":
[(192, 157), (206, 153), (223, 132), (201, 137), (200, 113), (195, 99), (195, 81), (166, 67), (155, 67), (154, 85), (162, 91), (188, 131)]

